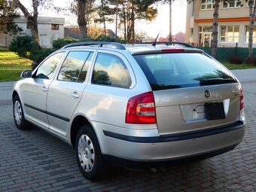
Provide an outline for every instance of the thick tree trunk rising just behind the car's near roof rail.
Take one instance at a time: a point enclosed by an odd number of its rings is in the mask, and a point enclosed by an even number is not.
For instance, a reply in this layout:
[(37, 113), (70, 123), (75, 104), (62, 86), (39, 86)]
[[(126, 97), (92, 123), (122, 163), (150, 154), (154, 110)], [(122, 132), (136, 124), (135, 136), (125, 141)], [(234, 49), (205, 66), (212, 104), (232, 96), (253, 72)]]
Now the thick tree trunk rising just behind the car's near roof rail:
[(85, 19), (85, 0), (78, 0), (78, 26), (83, 38), (87, 38), (87, 20)]

